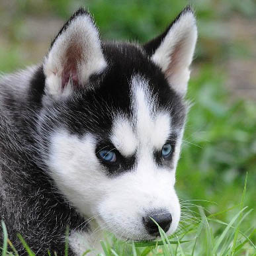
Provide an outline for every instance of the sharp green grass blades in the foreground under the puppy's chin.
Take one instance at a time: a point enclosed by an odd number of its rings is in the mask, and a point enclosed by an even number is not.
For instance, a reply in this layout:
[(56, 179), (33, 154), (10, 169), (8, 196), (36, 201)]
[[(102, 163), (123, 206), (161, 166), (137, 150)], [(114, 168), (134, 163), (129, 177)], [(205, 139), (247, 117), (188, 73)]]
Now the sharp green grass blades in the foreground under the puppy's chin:
[[(104, 254), (107, 256), (146, 256), (146, 255), (255, 255), (256, 247), (252, 241), (252, 237), (256, 232), (255, 228), (244, 230), (243, 222), (249, 218), (250, 210), (245, 204), (245, 194), (247, 189), (247, 178), (240, 202), (237, 206), (216, 212), (214, 214), (206, 214), (207, 211), (202, 206), (196, 206), (194, 201), (181, 202), (183, 208), (189, 210), (189, 216), (181, 219), (179, 230), (167, 237), (165, 232), (158, 226), (161, 239), (159, 241), (118, 241), (114, 235), (106, 234), (106, 240), (101, 241)], [(193, 204), (191, 206), (191, 204)], [(194, 209), (195, 208), (195, 209)], [(192, 210), (193, 209), (193, 210)], [(194, 211), (194, 210), (198, 211)], [(219, 220), (218, 216), (224, 212), (230, 212), (232, 219), (226, 223)], [(207, 215), (207, 216), (206, 216)], [(18, 255), (17, 251), (8, 239), (7, 230), (4, 222), (1, 222), (4, 239), (2, 245), (2, 255)], [(221, 230), (221, 232), (220, 232)], [(68, 234), (68, 228), (66, 235)], [(19, 239), (26, 248), (28, 255), (34, 253), (29, 249), (26, 241), (18, 234)], [(65, 255), (67, 255), (68, 240), (65, 240)], [(7, 244), (11, 245), (7, 248)], [(9, 251), (7, 251), (9, 249)], [(88, 249), (83, 253), (86, 255), (91, 250)], [(93, 249), (92, 249), (93, 251)], [(48, 255), (50, 252), (48, 251)], [(56, 255), (56, 253), (54, 253)]]

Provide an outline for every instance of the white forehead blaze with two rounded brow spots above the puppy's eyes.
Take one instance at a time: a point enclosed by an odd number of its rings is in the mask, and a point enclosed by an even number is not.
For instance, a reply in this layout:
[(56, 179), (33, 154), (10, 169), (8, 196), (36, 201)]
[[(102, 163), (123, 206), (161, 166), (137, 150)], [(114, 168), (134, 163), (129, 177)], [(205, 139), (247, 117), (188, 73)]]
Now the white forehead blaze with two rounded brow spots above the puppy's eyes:
[(161, 149), (171, 134), (170, 114), (159, 108), (145, 77), (132, 75), (130, 88), (132, 114), (114, 120), (112, 143), (124, 155), (134, 154), (138, 147)]

